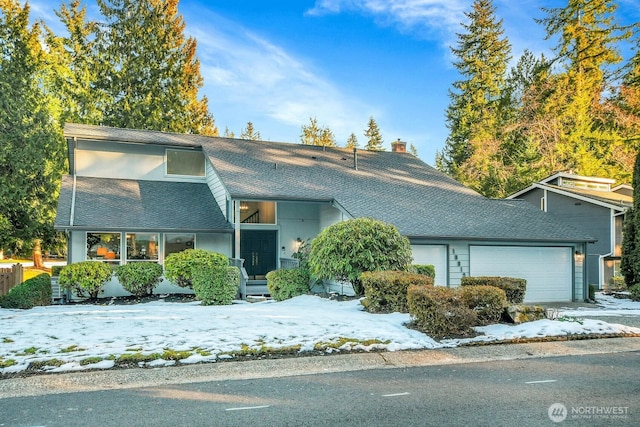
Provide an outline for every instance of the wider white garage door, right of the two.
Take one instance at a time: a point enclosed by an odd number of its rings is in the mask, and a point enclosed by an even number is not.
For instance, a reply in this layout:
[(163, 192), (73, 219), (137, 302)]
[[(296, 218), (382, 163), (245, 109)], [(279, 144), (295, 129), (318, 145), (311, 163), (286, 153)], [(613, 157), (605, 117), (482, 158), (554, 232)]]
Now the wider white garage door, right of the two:
[(471, 276), (506, 276), (527, 280), (524, 301), (571, 301), (571, 248), (471, 246)]

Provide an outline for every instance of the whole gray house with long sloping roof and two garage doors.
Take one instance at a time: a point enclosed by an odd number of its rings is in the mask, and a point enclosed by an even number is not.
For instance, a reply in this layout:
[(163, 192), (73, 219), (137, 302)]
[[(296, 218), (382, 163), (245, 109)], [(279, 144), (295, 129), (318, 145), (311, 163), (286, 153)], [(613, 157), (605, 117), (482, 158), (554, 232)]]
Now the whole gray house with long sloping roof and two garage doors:
[[(336, 222), (395, 225), (436, 284), (466, 275), (523, 277), (527, 301), (586, 297), (593, 239), (524, 201), (491, 200), (420, 159), (392, 152), (67, 124), (70, 175), (55, 227), (69, 261), (163, 263), (186, 248), (243, 259), (242, 296)], [(577, 255), (576, 255), (577, 254)], [(173, 292), (163, 283), (157, 292)], [(126, 294), (118, 283), (105, 295)]]

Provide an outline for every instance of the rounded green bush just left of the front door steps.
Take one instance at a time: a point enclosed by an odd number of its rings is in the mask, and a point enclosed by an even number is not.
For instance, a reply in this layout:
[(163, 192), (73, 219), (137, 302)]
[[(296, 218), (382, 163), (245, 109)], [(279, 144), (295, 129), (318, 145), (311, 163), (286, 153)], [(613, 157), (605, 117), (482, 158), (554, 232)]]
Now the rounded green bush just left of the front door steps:
[(202, 268), (194, 272), (192, 280), (202, 305), (229, 305), (238, 293), (240, 270), (230, 266)]

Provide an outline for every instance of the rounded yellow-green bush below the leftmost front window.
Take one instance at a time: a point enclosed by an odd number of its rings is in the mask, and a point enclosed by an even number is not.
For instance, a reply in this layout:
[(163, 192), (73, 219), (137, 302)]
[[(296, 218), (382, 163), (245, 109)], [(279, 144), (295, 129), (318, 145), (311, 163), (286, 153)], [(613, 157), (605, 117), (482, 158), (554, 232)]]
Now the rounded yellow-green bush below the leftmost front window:
[(75, 291), (79, 296), (86, 292), (90, 298), (98, 298), (113, 271), (109, 264), (100, 261), (82, 261), (64, 266), (58, 284), (62, 289)]

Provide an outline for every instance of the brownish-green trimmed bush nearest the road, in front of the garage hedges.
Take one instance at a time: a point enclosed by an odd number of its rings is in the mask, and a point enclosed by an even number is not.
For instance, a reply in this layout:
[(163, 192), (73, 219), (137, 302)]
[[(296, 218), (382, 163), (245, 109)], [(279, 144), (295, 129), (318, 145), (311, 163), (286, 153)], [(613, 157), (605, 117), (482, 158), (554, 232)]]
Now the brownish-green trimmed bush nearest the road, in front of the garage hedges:
[(464, 304), (459, 289), (413, 285), (407, 302), (413, 325), (433, 338), (474, 334), (478, 315)]

